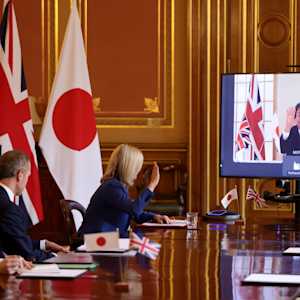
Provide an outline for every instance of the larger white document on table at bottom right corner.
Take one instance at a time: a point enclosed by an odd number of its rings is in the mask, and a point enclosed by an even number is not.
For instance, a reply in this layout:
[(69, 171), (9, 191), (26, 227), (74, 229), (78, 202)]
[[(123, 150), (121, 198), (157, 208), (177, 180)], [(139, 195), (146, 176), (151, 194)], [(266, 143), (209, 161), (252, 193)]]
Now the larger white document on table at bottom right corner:
[(300, 275), (253, 273), (247, 276), (243, 282), (262, 284), (300, 284)]

